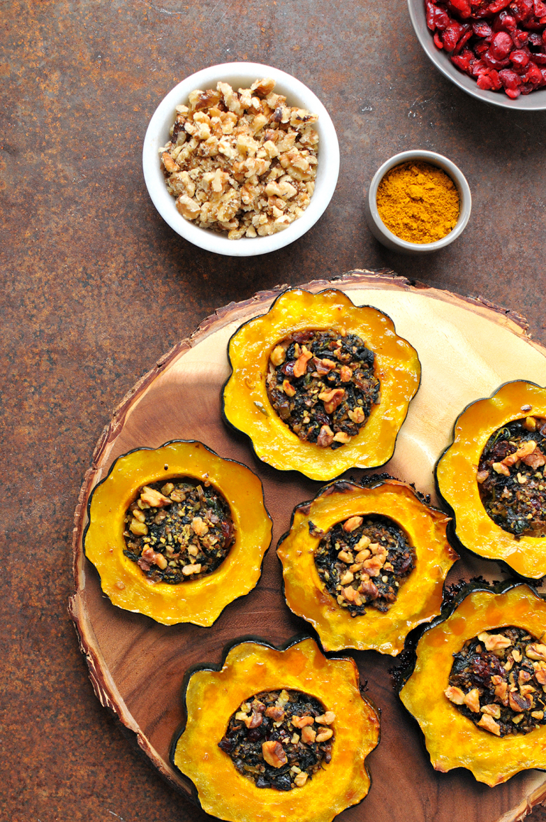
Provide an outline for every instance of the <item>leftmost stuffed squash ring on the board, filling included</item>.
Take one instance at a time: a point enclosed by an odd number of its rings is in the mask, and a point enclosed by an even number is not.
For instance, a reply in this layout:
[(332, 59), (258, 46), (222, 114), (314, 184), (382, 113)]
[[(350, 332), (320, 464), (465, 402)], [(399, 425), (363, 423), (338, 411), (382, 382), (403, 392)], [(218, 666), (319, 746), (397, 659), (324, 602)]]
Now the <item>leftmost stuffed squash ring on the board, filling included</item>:
[(88, 516), (104, 593), (164, 625), (211, 626), (257, 584), (271, 542), (260, 479), (194, 441), (118, 457)]

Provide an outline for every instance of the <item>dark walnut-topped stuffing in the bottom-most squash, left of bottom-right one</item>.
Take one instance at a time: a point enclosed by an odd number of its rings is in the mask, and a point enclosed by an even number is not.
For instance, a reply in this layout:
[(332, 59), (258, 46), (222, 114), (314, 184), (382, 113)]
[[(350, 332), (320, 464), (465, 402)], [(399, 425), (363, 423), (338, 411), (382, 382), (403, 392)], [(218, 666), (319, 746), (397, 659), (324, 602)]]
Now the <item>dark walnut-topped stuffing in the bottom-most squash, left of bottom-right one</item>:
[(218, 746), (257, 787), (291, 791), (330, 763), (334, 721), (299, 690), (262, 691), (229, 718)]

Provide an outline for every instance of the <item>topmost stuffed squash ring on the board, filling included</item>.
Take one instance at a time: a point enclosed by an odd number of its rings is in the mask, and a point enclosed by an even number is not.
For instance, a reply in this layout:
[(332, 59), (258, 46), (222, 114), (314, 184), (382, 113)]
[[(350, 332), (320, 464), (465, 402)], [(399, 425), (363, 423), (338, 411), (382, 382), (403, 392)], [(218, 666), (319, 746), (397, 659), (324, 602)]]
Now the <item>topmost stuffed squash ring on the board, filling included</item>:
[(385, 464), (419, 388), (391, 319), (341, 291), (289, 289), (229, 341), (224, 416), (276, 469), (327, 480)]

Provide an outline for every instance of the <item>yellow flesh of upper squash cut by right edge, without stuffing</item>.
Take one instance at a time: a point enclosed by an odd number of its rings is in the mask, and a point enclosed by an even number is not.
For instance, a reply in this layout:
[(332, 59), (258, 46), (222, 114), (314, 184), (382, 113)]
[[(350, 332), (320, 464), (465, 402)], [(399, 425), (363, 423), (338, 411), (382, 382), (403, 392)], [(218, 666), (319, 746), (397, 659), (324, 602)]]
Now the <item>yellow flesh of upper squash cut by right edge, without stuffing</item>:
[(453, 533), (464, 547), (504, 561), (517, 574), (536, 580), (546, 573), (546, 538), (516, 536), (493, 522), (479, 496), (477, 480), (489, 437), (529, 415), (546, 418), (546, 389), (525, 381), (507, 382), (491, 397), (468, 405), (456, 420), (453, 443), (438, 460), (436, 483), (453, 512)]

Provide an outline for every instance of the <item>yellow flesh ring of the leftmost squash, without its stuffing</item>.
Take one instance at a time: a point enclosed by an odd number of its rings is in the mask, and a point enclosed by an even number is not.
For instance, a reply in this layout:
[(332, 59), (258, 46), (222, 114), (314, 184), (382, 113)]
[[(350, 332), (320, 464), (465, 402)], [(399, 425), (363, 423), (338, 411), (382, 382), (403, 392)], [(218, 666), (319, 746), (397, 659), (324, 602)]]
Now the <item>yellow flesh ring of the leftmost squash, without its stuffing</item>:
[[(152, 582), (123, 554), (123, 521), (139, 488), (178, 477), (208, 482), (224, 496), (234, 522), (234, 542), (211, 575), (176, 585)], [(168, 442), (118, 457), (95, 487), (88, 516), (84, 547), (99, 571), (104, 593), (114, 605), (164, 625), (211, 626), (228, 603), (257, 584), (271, 542), (260, 479), (245, 465), (222, 459), (197, 441)]]

